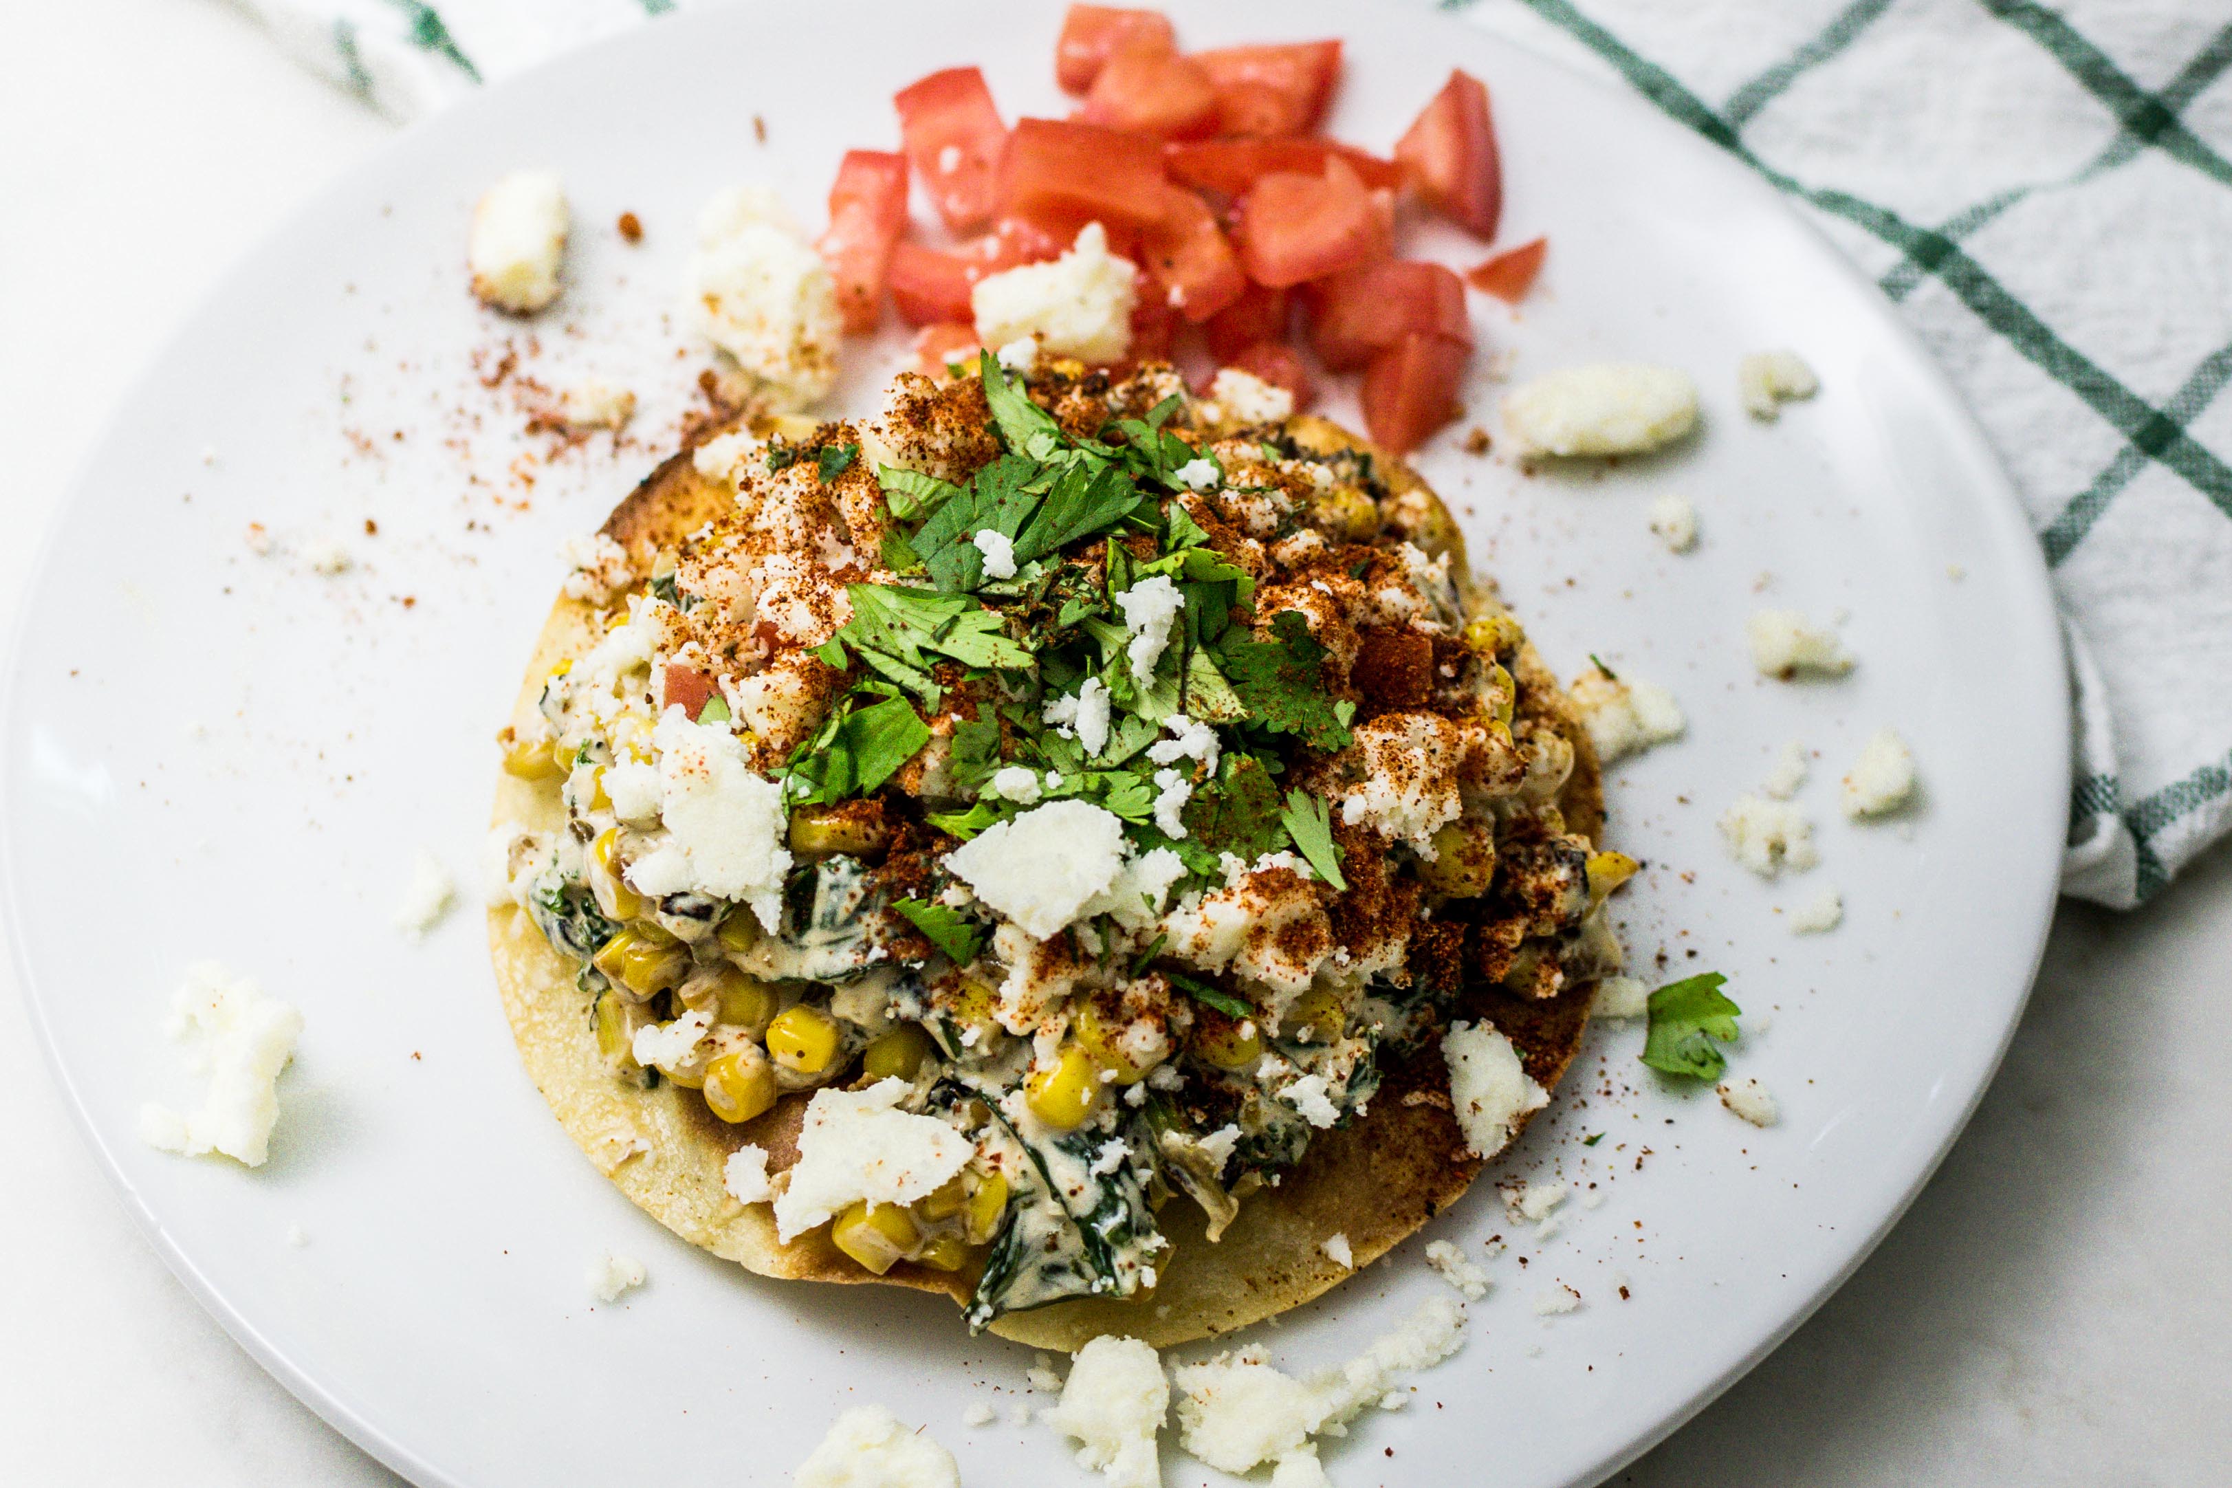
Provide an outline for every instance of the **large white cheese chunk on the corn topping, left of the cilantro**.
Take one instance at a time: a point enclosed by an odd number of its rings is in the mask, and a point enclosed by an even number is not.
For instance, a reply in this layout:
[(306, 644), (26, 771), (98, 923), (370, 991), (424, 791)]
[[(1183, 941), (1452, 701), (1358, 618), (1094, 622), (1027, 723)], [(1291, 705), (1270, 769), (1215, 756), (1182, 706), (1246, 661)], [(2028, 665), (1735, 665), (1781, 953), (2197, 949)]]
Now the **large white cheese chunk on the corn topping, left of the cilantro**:
[(743, 763), (725, 723), (690, 723), (679, 707), (658, 718), (652, 747), (667, 837), (627, 866), (629, 888), (654, 899), (696, 890), (750, 904), (772, 930), (790, 872), (783, 788)]

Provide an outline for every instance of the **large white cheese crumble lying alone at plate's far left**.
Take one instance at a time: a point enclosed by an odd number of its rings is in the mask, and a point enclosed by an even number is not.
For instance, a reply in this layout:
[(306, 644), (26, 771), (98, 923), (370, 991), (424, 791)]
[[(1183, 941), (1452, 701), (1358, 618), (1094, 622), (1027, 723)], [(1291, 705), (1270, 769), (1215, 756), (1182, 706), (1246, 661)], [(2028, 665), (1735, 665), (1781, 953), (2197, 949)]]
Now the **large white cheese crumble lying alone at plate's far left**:
[(217, 962), (194, 962), (170, 999), (165, 1033), (187, 1044), (187, 1066), (210, 1084), (192, 1111), (141, 1107), (141, 1138), (163, 1151), (221, 1151), (263, 1167), (279, 1122), (279, 1071), (295, 1057), (301, 1013)]

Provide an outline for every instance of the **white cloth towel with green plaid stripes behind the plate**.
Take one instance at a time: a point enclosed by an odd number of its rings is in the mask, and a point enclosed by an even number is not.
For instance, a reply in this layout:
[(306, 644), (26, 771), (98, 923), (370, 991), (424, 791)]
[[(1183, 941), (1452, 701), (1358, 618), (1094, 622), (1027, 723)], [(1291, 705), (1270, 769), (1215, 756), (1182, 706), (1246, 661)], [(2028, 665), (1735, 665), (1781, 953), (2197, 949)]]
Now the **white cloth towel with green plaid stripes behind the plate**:
[[(415, 116), (674, 0), (252, 0)], [(2015, 477), (2071, 640), (2065, 890), (2132, 906), (2232, 825), (2225, 0), (1449, 0), (1623, 83), (1866, 268)]]

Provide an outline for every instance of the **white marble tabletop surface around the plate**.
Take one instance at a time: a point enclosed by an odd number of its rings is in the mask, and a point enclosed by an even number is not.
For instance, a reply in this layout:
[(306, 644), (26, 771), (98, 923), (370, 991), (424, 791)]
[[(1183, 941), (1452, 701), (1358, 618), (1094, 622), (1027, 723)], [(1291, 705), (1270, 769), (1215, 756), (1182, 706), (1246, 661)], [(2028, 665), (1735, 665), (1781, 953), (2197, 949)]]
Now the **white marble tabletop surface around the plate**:
[[(232, 257), (388, 127), (214, 0), (11, 4), (7, 33), (13, 613), (29, 538), (136, 368)], [(2223, 1484), (2228, 988), (2228, 852), (2140, 915), (2065, 910), (2007, 1069), (1913, 1214), (1781, 1352), (1616, 1481)], [(0, 1129), (0, 1479), (400, 1481), (170, 1278), (65, 1120), (13, 986)]]

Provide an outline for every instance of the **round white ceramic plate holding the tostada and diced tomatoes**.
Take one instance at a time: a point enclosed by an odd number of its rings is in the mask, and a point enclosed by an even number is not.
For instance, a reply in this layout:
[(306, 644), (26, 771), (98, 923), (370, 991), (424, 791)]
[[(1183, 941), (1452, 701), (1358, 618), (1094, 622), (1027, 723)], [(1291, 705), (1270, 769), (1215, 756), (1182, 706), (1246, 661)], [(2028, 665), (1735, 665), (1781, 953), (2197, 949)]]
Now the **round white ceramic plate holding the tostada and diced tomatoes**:
[[(422, 1484), (777, 1481), (857, 1401), (929, 1423), (971, 1481), (1083, 1481), (1042, 1428), (1004, 1412), (962, 1426), (969, 1403), (1022, 1388), (1029, 1356), (971, 1341), (951, 1305), (766, 1283), (632, 1209), (520, 1073), (471, 904), (424, 944), (388, 926), (415, 848), (473, 883), (489, 734), (560, 578), (556, 542), (603, 518), (690, 399), (703, 359), (663, 312), (699, 201), (768, 181), (819, 221), (837, 154), (891, 147), (886, 96), (940, 65), (982, 62), (1009, 116), (1058, 112), (1056, 25), (1054, 7), (1004, 4), (692, 11), (491, 89), (225, 281), (118, 413), (49, 540), (11, 674), (4, 863), (54, 1066), (179, 1276)], [(1522, 477), (1451, 435), (1422, 457), (1565, 674), (1596, 651), (1685, 703), (1685, 743), (1614, 772), (1614, 839), (1652, 863), (1625, 899), (1627, 939), (1645, 975), (1663, 950), (1670, 977), (1719, 968), (1750, 1013), (1772, 1011), (1734, 1069), (1768, 1082), (1783, 1124), (1754, 1131), (1710, 1091), (1661, 1082), (1636, 1064), (1638, 1028), (1591, 1033), (1491, 1180), (1562, 1178), (1600, 1207), (1569, 1202), (1545, 1238), (1484, 1182), (1435, 1225), (1475, 1256), (1504, 1234), (1513, 1254), (1466, 1350), (1328, 1468), (1344, 1484), (1594, 1481), (1857, 1265), (2000, 1057), (2067, 799), (2045, 573), (1982, 437), (1884, 301), (1768, 187), (1643, 105), (1404, 9), (1219, 4), (1181, 27), (1190, 45), (1346, 36), (1333, 127), (1373, 147), (1451, 62), (1484, 76), (1507, 239), (1551, 239), (1520, 315), (1475, 303), (1484, 348), (1518, 375), (1667, 361), (1705, 393), (1696, 442), (1616, 471)], [(531, 163), (565, 172), (578, 230), (567, 299), (527, 348), (471, 303), (460, 259), (475, 194)], [(641, 248), (612, 230), (623, 210), (647, 225)], [(507, 335), (520, 364), (484, 388), (475, 352), (487, 366)], [(1821, 395), (1777, 426), (1734, 399), (1736, 357), (1759, 346), (1821, 373)], [(1469, 390), (1478, 419), (1489, 361)], [(853, 408), (888, 364), (857, 359)], [(513, 388), (585, 370), (643, 395), (636, 433), (545, 460)], [(1645, 529), (1663, 491), (1703, 513), (1692, 555)], [(243, 542), (250, 522), (270, 555)], [(357, 567), (312, 573), (317, 535)], [(1859, 669), (1757, 678), (1741, 638), (1757, 605), (1850, 611)], [(1913, 741), (1926, 803), (1853, 828), (1837, 776), (1884, 723)], [(1788, 738), (1821, 752), (1801, 803), (1824, 863), (1766, 886), (1712, 823)], [(1844, 928), (1795, 939), (1779, 908), (1828, 883)], [(185, 1095), (161, 1013), (199, 957), (308, 1015), (254, 1173), (134, 1136), (143, 1100)], [(288, 1243), (297, 1225), (306, 1245)], [(612, 1307), (583, 1285), (607, 1247), (652, 1274)], [(1531, 1301), (1558, 1283), (1582, 1307), (1542, 1321)], [(1413, 1243), (1261, 1336), (1315, 1365), (1437, 1285)]]

